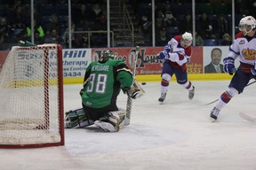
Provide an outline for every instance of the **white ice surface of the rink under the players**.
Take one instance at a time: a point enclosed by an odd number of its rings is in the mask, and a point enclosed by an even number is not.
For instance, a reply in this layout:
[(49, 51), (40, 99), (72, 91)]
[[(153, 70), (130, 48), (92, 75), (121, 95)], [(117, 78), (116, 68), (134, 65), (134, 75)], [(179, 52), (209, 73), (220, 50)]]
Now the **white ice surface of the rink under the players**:
[[(171, 81), (164, 104), (158, 104), (160, 82), (147, 82), (146, 94), (133, 100), (131, 124), (118, 133), (95, 127), (66, 129), (65, 146), (0, 149), (1, 170), (255, 170), (256, 83), (224, 107), (217, 122), (209, 120), (229, 81), (192, 81), (188, 91)], [(82, 85), (64, 88), (65, 111), (81, 106)], [(124, 107), (126, 96), (118, 97)]]

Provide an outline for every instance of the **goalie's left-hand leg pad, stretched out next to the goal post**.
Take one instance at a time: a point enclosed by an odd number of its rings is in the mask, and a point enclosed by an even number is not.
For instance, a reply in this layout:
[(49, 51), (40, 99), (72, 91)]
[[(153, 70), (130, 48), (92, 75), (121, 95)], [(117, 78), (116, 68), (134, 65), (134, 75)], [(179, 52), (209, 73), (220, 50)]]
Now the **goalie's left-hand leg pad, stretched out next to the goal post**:
[(87, 119), (83, 108), (65, 112), (65, 115), (65, 128), (84, 128), (93, 124)]

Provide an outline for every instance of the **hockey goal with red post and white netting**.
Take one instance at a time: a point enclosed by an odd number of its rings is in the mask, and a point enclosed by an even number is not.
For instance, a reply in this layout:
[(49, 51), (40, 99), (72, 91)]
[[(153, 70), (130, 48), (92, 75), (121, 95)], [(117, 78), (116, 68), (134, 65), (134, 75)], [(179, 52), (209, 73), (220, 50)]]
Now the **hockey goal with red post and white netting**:
[(0, 147), (64, 145), (62, 49), (14, 46), (0, 73)]

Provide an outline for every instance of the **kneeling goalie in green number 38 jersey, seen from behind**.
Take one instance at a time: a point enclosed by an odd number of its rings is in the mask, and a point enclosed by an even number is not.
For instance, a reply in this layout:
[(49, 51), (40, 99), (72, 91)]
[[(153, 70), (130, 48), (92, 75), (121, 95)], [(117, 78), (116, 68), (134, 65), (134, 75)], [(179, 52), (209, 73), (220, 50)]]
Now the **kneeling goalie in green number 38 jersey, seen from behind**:
[(100, 60), (87, 67), (83, 85), (80, 91), (83, 109), (66, 112), (66, 128), (83, 128), (94, 124), (103, 131), (117, 132), (124, 127), (126, 114), (116, 105), (121, 89), (133, 99), (145, 92), (139, 83), (133, 82), (129, 67), (114, 59), (114, 53), (110, 50), (103, 51)]

